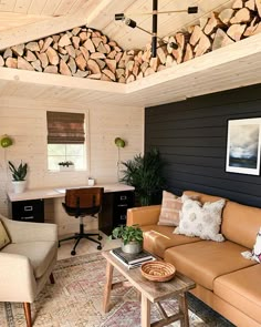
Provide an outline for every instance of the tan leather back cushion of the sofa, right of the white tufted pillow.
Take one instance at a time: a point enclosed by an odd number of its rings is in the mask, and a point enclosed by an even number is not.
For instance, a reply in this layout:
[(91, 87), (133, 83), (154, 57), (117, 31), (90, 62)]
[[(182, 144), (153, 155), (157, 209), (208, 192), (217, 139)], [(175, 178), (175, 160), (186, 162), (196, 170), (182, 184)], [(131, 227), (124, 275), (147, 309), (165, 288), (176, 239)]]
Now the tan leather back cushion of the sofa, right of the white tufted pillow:
[(261, 226), (261, 208), (228, 201), (223, 208), (221, 233), (248, 248), (253, 248)]

